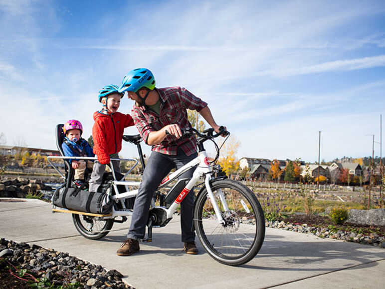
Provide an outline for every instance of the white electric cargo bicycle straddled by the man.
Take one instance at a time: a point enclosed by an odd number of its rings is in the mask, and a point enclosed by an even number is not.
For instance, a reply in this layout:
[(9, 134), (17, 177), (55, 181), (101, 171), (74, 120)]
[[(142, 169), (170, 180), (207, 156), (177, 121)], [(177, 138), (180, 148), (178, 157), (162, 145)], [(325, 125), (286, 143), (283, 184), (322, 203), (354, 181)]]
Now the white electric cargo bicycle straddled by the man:
[[(219, 148), (214, 138), (223, 133), (227, 133), (224, 128), (218, 134), (215, 134), (213, 129), (205, 130), (203, 133), (195, 129), (184, 132), (184, 135), (194, 134), (196, 136), (198, 156), (166, 176), (158, 190), (166, 188), (184, 172), (195, 168), (192, 178), (178, 179), (166, 195), (160, 195), (160, 205), (155, 205), (153, 201), (144, 242), (152, 241), (152, 229), (166, 226), (186, 195), (192, 191), (200, 179), (204, 179), (195, 198), (193, 226), (205, 251), (217, 262), (230, 266), (245, 264), (259, 252), (265, 236), (265, 221), (258, 199), (242, 183), (227, 179), (226, 176), (214, 177), (218, 168), (213, 164), (219, 157)], [(123, 136), (123, 139), (137, 145), (140, 161), (144, 167), (140, 135), (126, 135)], [(216, 148), (216, 156), (212, 161), (208, 159), (203, 146), (207, 140), (212, 141)], [(69, 157), (48, 157), (48, 160), (54, 158), (69, 159)], [(138, 187), (140, 183), (125, 181), (124, 177), (118, 180), (113, 169), (113, 160), (115, 159), (112, 159), (110, 163), (112, 168), (110, 180), (106, 184), (106, 193), (113, 202), (111, 213), (101, 215), (68, 211), (72, 213), (76, 229), (85, 238), (94, 240), (103, 238), (111, 230), (114, 222), (123, 223), (132, 214), (132, 204), (138, 194), (138, 189), (132, 190), (131, 188)], [(134, 167), (137, 164), (138, 161)], [(68, 178), (66, 182), (67, 185), (70, 185)], [(125, 190), (122, 190), (122, 187)], [(65, 211), (56, 208), (53, 210)], [(121, 219), (118, 219), (119, 217)]]

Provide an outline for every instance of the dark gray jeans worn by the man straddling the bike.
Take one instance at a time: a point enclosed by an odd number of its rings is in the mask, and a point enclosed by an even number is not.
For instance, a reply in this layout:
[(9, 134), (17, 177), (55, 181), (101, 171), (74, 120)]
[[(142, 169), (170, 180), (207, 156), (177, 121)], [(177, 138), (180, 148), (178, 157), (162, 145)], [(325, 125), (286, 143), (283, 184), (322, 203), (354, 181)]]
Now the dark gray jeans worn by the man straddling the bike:
[[(143, 179), (139, 186), (138, 195), (135, 199), (134, 212), (132, 214), (127, 238), (136, 240), (144, 238), (151, 199), (159, 184), (174, 167), (179, 169), (196, 158), (196, 156), (197, 153), (186, 156), (182, 149), (178, 149), (176, 156), (165, 155), (154, 151), (151, 152), (143, 172)], [(193, 171), (194, 168), (185, 172), (179, 178), (191, 178)], [(193, 209), (194, 192), (191, 190), (181, 203), (182, 242), (192, 242), (195, 240), (195, 232), (192, 230)]]

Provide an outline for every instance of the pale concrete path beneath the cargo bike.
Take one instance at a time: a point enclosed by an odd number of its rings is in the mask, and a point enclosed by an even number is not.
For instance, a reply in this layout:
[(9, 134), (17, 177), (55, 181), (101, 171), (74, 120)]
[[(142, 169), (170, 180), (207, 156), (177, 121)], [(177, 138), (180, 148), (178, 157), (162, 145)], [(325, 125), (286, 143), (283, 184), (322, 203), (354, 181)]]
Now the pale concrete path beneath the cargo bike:
[[(76, 231), (70, 214), (51, 213), (39, 200), (0, 200), (0, 237), (37, 244), (116, 269), (124, 280), (144, 288), (384, 288), (385, 250), (313, 235), (266, 229), (259, 254), (240, 267), (219, 264), (205, 253), (182, 253), (179, 217), (153, 230), (153, 242), (119, 257), (129, 222), (114, 224), (99, 241)], [(21, 202), (22, 201), (22, 202)]]

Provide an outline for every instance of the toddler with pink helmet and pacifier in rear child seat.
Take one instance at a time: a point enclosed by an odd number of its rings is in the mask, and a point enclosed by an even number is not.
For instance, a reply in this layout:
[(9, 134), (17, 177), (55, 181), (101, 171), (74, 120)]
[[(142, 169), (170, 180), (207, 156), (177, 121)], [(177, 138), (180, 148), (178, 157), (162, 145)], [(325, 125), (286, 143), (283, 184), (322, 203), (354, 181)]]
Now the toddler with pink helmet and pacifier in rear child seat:
[[(81, 137), (83, 126), (76, 119), (68, 120), (63, 126), (65, 134), (64, 141), (61, 145), (64, 155), (67, 157), (94, 157), (92, 148), (88, 142)], [(75, 170), (75, 185), (81, 187), (84, 182), (84, 171), (86, 168), (92, 169), (94, 163), (91, 160), (69, 159), (69, 163)]]

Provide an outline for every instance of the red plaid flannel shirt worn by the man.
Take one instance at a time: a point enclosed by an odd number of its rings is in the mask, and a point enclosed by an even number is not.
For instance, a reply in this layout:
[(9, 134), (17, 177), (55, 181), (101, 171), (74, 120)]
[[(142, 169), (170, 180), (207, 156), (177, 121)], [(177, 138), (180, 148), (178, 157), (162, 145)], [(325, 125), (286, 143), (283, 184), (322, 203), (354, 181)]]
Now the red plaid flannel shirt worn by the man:
[[(146, 144), (148, 144), (147, 140), (150, 132), (158, 131), (166, 125), (176, 123), (182, 129), (191, 128), (186, 109), (200, 111), (207, 106), (206, 102), (193, 95), (186, 88), (165, 87), (155, 89), (158, 91), (161, 101), (160, 115), (151, 109), (146, 109), (144, 106), (137, 107), (135, 104), (131, 113), (135, 126)], [(178, 147), (181, 147), (185, 154), (190, 156), (196, 152), (195, 137), (177, 139), (168, 135), (161, 143), (153, 145), (151, 150), (162, 154), (176, 155)]]

